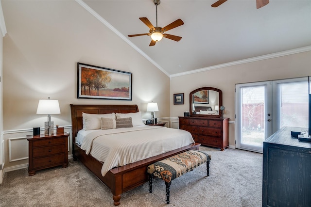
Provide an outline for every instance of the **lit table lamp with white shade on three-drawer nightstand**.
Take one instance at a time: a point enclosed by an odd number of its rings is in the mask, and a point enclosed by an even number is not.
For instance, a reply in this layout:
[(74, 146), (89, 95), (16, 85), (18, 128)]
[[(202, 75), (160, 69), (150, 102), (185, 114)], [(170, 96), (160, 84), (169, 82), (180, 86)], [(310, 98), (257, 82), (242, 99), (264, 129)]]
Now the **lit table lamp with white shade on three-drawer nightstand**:
[(37, 114), (48, 114), (48, 121), (44, 122), (44, 134), (53, 134), (54, 122), (51, 122), (51, 114), (59, 114), (59, 103), (58, 100), (40, 99), (37, 108)]

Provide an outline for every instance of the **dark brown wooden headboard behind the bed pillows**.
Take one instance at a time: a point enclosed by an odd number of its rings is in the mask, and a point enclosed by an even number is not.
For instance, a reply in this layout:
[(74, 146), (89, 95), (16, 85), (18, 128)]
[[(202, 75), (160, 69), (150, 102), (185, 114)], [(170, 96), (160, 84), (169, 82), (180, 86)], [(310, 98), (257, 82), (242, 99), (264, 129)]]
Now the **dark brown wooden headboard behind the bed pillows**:
[(104, 113), (135, 113), (138, 112), (137, 105), (74, 105), (70, 104), (72, 143), (75, 143), (78, 131), (82, 129), (82, 112), (93, 114)]

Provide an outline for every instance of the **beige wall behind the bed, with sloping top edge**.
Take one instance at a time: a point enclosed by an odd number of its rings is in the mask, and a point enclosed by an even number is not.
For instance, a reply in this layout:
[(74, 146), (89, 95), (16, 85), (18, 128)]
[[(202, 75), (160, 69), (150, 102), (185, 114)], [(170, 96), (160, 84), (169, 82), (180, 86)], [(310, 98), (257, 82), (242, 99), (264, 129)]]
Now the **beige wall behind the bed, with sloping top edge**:
[[(8, 161), (8, 139), (27, 145), (30, 129), (44, 127), (47, 115), (36, 114), (39, 99), (59, 100), (54, 126), (71, 125), (69, 104), (137, 104), (147, 119), (153, 100), (156, 116), (169, 117), (169, 77), (77, 2), (5, 0), (2, 7), (8, 32), (3, 38), (5, 167), (28, 163)], [(132, 101), (77, 99), (77, 62), (132, 72)]]

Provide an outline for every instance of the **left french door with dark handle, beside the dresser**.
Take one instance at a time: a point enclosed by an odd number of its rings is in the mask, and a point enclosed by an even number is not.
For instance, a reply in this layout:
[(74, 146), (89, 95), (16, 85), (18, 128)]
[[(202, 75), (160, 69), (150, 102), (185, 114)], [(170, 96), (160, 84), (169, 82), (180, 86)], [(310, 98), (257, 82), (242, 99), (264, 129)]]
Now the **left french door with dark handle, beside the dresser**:
[(236, 147), (262, 152), (272, 134), (271, 81), (236, 85)]

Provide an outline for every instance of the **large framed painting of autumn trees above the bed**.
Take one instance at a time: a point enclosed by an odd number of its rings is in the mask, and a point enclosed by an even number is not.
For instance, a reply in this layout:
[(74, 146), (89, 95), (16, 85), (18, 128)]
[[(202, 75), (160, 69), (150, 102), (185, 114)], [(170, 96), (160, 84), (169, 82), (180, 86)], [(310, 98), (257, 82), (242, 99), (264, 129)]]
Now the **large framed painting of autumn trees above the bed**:
[(78, 98), (132, 100), (132, 73), (78, 63)]

